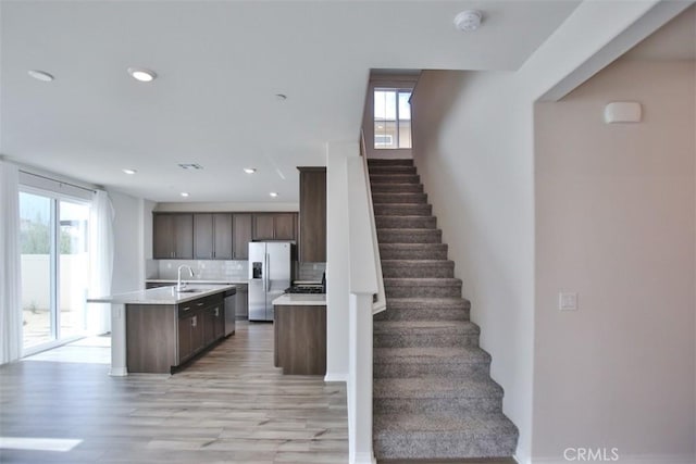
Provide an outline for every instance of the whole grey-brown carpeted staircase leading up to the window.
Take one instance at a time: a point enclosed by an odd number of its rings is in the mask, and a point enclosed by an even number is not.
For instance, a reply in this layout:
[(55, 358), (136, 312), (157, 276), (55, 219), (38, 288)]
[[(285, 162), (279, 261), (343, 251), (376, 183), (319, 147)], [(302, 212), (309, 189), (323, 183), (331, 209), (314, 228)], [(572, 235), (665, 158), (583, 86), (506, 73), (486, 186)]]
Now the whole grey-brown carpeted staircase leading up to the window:
[(511, 456), (518, 429), (412, 160), (369, 160), (387, 310), (374, 321), (378, 460)]

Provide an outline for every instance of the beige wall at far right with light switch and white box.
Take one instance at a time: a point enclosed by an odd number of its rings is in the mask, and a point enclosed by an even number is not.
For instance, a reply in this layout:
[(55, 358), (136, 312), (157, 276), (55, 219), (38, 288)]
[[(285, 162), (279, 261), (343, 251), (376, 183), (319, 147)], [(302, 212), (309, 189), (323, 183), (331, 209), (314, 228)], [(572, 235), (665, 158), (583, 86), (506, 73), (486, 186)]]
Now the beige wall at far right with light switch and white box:
[[(536, 106), (536, 456), (695, 457), (694, 70), (621, 61)], [(605, 124), (624, 100), (643, 123)]]

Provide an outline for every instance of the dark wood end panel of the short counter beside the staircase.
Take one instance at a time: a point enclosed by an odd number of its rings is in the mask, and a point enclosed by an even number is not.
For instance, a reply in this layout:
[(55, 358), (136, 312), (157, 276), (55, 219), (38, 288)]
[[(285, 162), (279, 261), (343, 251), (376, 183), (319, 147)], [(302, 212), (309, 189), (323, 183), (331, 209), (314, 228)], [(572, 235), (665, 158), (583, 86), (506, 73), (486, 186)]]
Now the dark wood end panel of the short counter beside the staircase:
[(283, 374), (326, 374), (326, 306), (275, 305), (274, 361)]

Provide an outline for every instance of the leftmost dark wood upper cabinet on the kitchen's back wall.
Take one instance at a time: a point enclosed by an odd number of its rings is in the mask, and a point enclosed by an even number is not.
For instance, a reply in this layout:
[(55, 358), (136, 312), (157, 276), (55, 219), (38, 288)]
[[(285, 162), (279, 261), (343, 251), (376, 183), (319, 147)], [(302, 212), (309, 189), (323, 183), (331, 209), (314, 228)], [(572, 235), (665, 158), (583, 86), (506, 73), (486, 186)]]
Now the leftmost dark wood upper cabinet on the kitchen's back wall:
[(152, 221), (154, 259), (190, 260), (194, 258), (194, 215), (156, 213)]

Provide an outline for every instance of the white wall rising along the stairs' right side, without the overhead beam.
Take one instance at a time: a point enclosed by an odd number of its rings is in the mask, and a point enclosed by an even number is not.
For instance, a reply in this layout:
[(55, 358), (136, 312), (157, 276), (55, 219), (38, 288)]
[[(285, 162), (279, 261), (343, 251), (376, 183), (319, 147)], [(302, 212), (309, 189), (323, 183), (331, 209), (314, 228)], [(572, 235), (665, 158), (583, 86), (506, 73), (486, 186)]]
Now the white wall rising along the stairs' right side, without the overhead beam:
[(413, 158), (505, 388), (531, 444), (534, 322), (531, 99), (513, 73), (425, 72), (413, 97)]

